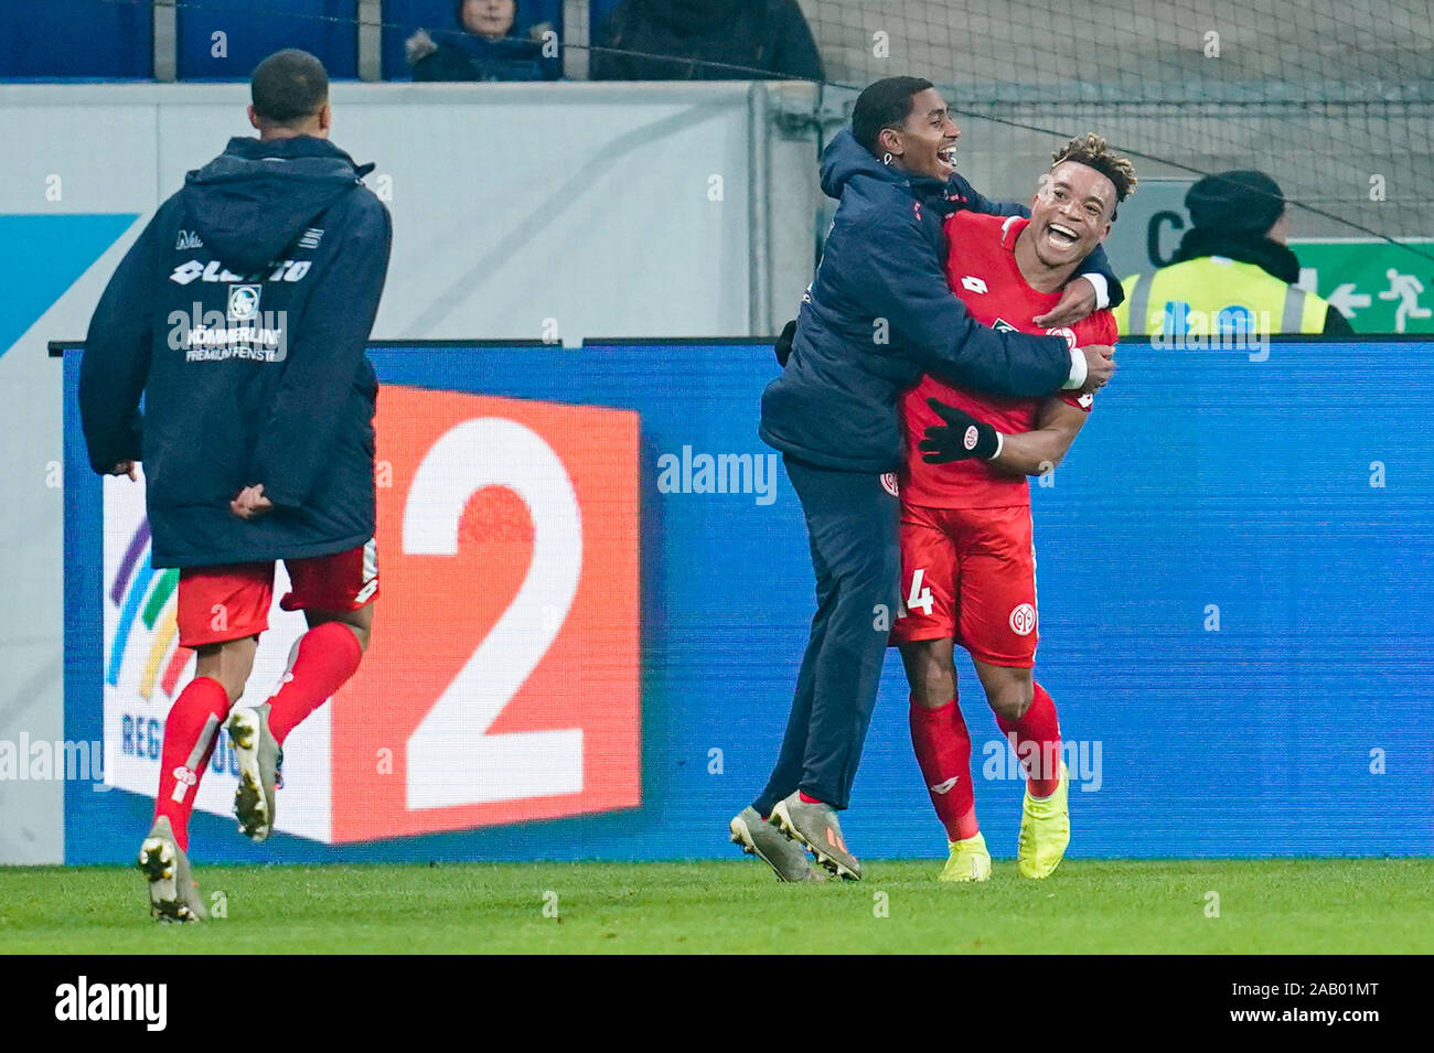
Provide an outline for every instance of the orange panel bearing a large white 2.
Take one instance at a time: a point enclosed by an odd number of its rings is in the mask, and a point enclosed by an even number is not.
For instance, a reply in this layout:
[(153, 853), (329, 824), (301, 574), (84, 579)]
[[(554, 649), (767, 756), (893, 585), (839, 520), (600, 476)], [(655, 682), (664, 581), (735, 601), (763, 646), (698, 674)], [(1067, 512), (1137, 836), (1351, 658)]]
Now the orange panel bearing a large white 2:
[(334, 841), (640, 804), (637, 414), (384, 387), (374, 427), (383, 597), (334, 703)]

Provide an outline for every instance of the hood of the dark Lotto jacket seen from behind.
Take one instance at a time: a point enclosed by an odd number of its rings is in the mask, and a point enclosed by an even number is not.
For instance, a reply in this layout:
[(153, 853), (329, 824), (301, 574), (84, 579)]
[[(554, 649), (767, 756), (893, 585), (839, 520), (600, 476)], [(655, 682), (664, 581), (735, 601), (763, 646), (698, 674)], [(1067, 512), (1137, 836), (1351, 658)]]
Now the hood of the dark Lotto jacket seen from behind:
[(360, 185), (358, 166), (327, 139), (235, 138), (224, 153), (185, 176), (199, 236), (225, 266), (262, 269), (334, 202)]

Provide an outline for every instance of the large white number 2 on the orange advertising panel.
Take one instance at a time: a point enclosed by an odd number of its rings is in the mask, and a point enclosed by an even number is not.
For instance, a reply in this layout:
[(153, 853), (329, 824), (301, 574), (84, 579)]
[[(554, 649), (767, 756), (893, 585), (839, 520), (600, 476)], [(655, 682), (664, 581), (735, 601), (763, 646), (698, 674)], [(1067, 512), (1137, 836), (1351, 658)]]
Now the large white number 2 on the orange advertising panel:
[[(413, 476), (403, 506), (403, 550), (456, 556), (463, 509), (489, 486), (509, 487), (528, 504), (532, 562), (512, 605), (409, 738), (409, 808), (582, 789), (581, 728), (488, 734), (556, 638), (582, 574), (578, 496), (552, 447), (500, 417), (450, 428)], [(482, 587), (482, 580), (473, 582), (473, 589)]]

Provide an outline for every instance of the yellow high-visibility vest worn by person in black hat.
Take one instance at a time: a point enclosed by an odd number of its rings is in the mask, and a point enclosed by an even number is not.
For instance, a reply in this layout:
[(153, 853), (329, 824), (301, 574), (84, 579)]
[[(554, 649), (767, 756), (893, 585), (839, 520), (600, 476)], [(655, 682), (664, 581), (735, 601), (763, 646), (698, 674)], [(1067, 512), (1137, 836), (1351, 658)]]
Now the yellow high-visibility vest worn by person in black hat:
[(1200, 256), (1126, 278), (1121, 337), (1324, 332), (1329, 302), (1255, 264)]

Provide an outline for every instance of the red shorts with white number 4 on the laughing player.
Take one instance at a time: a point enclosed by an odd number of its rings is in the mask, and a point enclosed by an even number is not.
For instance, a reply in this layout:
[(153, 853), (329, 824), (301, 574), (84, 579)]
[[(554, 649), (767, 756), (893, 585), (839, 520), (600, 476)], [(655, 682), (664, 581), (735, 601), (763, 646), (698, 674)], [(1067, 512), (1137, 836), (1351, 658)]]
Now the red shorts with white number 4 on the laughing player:
[(893, 643), (955, 639), (988, 665), (1035, 665), (1031, 509), (901, 510), (902, 612)]

